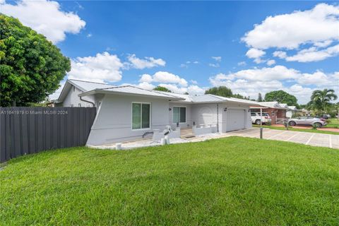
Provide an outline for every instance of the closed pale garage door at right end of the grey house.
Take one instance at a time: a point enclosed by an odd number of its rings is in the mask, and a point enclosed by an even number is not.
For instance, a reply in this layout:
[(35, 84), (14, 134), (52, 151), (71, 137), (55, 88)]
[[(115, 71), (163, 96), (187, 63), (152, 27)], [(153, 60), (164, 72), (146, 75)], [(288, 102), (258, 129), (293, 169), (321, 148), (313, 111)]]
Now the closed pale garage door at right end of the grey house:
[(226, 121), (227, 132), (239, 130), (239, 129), (245, 129), (244, 109), (227, 109), (226, 114), (227, 114), (227, 121)]

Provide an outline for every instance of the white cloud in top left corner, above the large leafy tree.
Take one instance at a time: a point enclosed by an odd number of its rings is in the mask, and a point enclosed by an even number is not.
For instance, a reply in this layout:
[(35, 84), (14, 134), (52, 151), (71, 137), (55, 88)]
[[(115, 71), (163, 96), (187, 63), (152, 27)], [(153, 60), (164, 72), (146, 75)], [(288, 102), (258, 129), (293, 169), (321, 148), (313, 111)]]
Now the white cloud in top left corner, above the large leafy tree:
[(57, 1), (16, 1), (16, 5), (1, 2), (0, 12), (18, 18), (53, 43), (65, 40), (66, 33), (77, 34), (85, 21), (73, 12), (61, 11)]

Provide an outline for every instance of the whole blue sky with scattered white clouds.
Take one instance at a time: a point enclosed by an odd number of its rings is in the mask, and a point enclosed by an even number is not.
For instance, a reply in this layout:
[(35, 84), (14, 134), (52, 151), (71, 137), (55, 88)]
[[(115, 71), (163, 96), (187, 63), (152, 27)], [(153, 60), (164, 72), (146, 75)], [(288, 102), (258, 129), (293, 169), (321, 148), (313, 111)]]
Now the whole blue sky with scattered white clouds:
[(300, 103), (314, 89), (339, 92), (333, 1), (58, 3), (2, 1), (0, 11), (57, 44), (69, 78), (192, 94), (227, 85), (251, 98), (282, 89)]

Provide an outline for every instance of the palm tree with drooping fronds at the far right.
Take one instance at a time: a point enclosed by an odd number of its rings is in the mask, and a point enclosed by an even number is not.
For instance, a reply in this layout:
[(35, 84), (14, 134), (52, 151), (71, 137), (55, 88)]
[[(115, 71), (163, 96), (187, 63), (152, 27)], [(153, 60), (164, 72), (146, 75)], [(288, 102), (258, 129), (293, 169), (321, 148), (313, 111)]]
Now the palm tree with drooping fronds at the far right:
[(332, 89), (314, 90), (311, 95), (310, 103), (316, 109), (320, 109), (324, 113), (328, 103), (332, 100), (337, 100), (337, 98), (338, 96), (334, 94), (334, 90)]

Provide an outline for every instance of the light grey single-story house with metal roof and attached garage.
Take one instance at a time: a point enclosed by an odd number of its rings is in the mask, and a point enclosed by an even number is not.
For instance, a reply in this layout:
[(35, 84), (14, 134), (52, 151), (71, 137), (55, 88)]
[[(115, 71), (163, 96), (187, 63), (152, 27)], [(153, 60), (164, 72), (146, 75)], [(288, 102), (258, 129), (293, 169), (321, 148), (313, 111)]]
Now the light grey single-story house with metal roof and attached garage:
[(131, 85), (69, 80), (65, 87), (59, 106), (87, 106), (91, 102), (97, 107), (88, 145), (131, 141), (169, 126), (176, 129), (177, 124), (181, 129), (213, 128), (209, 131), (222, 133), (249, 129), (249, 107), (257, 105), (237, 98), (165, 93)]

